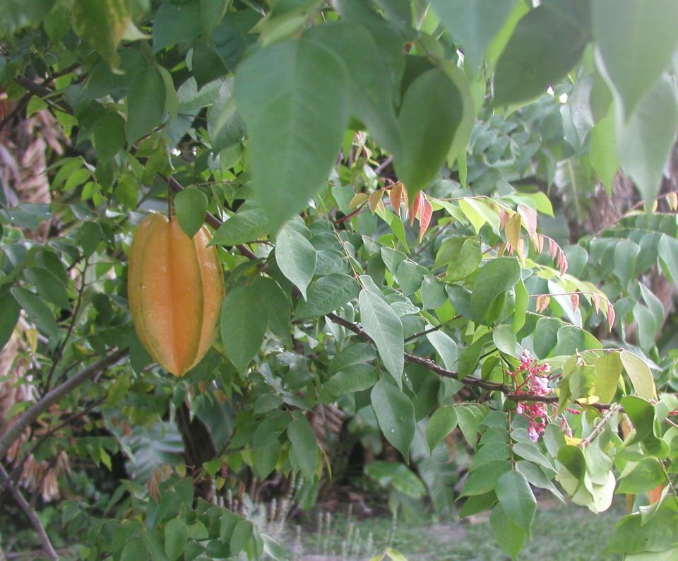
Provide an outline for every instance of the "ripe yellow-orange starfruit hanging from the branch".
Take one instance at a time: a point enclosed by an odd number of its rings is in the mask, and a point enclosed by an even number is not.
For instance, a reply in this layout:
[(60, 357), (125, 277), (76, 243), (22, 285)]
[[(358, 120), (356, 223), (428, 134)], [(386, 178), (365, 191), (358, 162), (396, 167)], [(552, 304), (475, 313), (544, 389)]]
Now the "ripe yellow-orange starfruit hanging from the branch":
[(150, 214), (129, 252), (127, 293), (136, 333), (153, 359), (183, 376), (214, 340), (224, 279), (203, 226), (193, 239), (176, 218)]

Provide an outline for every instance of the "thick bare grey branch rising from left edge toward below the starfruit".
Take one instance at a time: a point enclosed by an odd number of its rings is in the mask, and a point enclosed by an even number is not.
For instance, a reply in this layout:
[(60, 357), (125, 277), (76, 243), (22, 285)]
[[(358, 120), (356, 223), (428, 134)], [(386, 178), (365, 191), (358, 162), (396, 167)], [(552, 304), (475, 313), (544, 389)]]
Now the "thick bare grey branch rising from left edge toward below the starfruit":
[(85, 367), (83, 370), (75, 374), (73, 377), (67, 379), (65, 382), (45, 394), (40, 401), (35, 403), (23, 415), (20, 416), (0, 438), (0, 458), (4, 458), (8, 449), (14, 442), (23, 434), (27, 427), (30, 427), (35, 420), (40, 417), (42, 413), (57, 403), (62, 397), (69, 394), (73, 389), (76, 389), (80, 384), (86, 382), (88, 379), (95, 377), (96, 374), (105, 370), (106, 367), (112, 365), (114, 362), (120, 360), (128, 353), (127, 349), (114, 350), (109, 355), (105, 356), (97, 362)]

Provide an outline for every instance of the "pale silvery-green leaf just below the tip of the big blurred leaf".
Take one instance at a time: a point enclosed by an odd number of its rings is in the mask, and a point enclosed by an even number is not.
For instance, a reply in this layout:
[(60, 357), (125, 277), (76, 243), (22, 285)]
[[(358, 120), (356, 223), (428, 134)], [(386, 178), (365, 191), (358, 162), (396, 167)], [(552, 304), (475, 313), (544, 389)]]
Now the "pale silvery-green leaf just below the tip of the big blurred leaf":
[(316, 270), (317, 259), (316, 249), (295, 228), (288, 225), (280, 230), (275, 240), (275, 263), (283, 275), (299, 288), (304, 300)]

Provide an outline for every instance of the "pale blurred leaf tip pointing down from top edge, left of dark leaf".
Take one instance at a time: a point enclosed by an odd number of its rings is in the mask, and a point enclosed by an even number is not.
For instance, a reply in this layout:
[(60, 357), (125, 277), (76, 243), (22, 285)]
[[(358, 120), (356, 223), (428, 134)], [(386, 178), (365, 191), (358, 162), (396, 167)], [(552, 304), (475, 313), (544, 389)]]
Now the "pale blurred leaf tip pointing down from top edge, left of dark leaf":
[(444, 28), (464, 51), (464, 64), (472, 71), (480, 66), (485, 47), (499, 33), (515, 0), (432, 0)]

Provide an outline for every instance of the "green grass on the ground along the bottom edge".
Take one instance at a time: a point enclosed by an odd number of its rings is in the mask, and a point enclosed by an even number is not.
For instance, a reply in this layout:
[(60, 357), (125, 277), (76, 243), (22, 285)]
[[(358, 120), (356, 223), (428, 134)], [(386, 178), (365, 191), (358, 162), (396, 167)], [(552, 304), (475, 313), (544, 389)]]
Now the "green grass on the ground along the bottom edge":
[[(542, 502), (537, 507), (533, 539), (525, 543), (519, 558), (524, 561), (616, 561), (618, 557), (604, 555), (602, 551), (607, 536), (623, 514), (621, 502), (600, 515), (573, 504)], [(393, 520), (388, 516), (358, 520), (355, 516), (348, 519), (347, 515), (346, 511), (329, 516), (308, 513), (296, 538), (292, 536), (288, 541), (290, 548), (296, 543), (295, 560), (368, 560), (388, 545), (408, 561), (509, 560), (494, 541), (487, 513), (471, 522), (454, 516), (439, 520), (432, 516), (422, 516), (415, 521), (398, 520), (395, 531), (392, 531)]]

